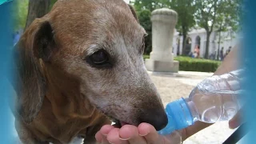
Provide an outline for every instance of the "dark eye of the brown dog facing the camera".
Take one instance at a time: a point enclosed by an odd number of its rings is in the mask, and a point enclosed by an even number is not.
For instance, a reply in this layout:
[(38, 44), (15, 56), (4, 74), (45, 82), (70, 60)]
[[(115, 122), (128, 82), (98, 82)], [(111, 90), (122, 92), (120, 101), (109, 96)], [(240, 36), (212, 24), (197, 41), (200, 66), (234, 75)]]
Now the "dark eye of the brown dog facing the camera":
[(109, 54), (107, 54), (106, 50), (98, 50), (94, 52), (94, 54), (89, 55), (86, 58), (86, 62), (88, 62), (90, 66), (98, 68), (112, 66)]

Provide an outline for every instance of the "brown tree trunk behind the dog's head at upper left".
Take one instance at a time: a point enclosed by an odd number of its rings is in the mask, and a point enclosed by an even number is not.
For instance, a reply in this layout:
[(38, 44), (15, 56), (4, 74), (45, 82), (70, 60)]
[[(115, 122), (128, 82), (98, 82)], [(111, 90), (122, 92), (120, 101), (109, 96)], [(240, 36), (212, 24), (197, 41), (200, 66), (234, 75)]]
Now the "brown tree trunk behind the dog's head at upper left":
[(49, 7), (50, 0), (30, 0), (25, 30), (28, 26), (30, 26), (35, 18), (42, 18), (42, 16), (47, 14)]

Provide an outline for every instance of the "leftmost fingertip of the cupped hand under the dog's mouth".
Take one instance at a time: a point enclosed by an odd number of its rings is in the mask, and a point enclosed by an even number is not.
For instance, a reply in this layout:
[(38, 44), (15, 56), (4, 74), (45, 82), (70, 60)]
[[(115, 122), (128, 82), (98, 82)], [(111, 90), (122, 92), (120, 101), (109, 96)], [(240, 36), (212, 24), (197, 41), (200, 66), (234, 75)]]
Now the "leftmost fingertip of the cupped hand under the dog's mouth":
[(102, 126), (101, 130), (98, 131), (99, 134), (97, 133), (97, 135), (95, 135), (95, 138), (97, 139), (98, 142), (101, 142), (102, 144), (108, 143), (106, 136), (113, 129), (114, 129), (114, 126), (111, 126), (111, 125)]

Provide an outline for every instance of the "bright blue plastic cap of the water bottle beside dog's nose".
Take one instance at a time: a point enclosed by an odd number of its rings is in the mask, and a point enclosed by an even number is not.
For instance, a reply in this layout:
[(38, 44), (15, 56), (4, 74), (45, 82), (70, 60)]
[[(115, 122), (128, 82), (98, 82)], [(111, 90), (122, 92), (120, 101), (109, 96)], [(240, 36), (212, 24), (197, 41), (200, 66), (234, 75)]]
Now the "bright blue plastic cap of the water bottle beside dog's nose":
[(171, 134), (174, 130), (182, 130), (187, 126), (194, 124), (194, 118), (184, 98), (170, 102), (166, 106), (166, 114), (168, 117), (168, 124), (165, 128), (159, 130), (158, 134)]

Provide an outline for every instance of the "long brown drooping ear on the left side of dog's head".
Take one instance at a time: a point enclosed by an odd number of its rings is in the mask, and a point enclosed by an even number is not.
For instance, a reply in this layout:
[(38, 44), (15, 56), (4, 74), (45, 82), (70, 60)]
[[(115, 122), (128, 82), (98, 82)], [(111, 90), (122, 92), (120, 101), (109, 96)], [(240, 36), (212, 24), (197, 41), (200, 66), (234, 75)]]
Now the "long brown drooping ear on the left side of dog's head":
[(38, 115), (46, 94), (42, 61), (49, 62), (55, 48), (50, 22), (36, 19), (15, 46), (15, 114), (26, 123)]

